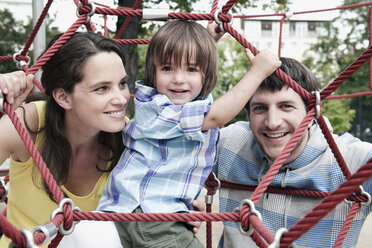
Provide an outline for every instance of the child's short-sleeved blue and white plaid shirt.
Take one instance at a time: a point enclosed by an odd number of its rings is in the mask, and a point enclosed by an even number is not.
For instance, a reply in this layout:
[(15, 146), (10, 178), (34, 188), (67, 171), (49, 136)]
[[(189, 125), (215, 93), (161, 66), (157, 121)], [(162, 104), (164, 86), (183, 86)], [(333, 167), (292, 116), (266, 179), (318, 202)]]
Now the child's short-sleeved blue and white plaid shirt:
[(212, 97), (174, 105), (136, 83), (135, 117), (124, 128), (127, 147), (111, 172), (99, 211), (188, 212), (216, 162), (218, 129), (202, 131)]

